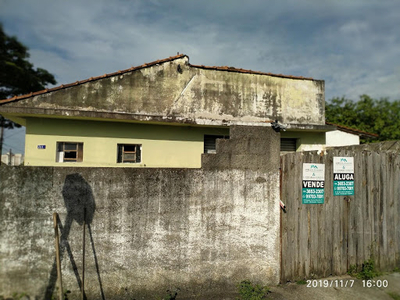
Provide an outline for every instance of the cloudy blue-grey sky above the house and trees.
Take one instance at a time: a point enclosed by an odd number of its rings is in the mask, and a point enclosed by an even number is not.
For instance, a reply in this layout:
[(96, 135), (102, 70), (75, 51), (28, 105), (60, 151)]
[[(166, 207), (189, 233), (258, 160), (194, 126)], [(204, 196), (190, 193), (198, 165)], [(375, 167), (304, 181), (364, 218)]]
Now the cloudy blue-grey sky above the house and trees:
[[(322, 79), (326, 100), (400, 100), (398, 0), (0, 0), (0, 22), (57, 85), (179, 52)], [(6, 132), (6, 151), (23, 151), (23, 132)]]

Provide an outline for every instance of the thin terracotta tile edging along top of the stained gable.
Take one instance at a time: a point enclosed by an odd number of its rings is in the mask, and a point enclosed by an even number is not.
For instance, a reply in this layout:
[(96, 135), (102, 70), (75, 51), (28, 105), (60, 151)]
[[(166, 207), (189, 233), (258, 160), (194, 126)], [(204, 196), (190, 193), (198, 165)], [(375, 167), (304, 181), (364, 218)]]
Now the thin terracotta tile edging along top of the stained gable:
[[(73, 83), (69, 83), (69, 84), (61, 84), (59, 86), (53, 87), (53, 88), (46, 88), (42, 91), (37, 91), (35, 93), (30, 93), (30, 94), (26, 94), (26, 95), (20, 95), (20, 96), (14, 96), (12, 98), (8, 98), (8, 99), (4, 99), (4, 100), (0, 100), (0, 105), (1, 104), (5, 104), (5, 103), (9, 103), (9, 102), (13, 102), (13, 101), (17, 101), (17, 100), (21, 100), (21, 99), (25, 99), (25, 98), (29, 98), (32, 96), (37, 96), (37, 95), (41, 95), (41, 94), (46, 94), (46, 93), (51, 93), (57, 90), (61, 90), (61, 89), (65, 89), (68, 87), (72, 87), (72, 86), (77, 86), (80, 84), (84, 84), (87, 82), (91, 82), (91, 81), (96, 81), (99, 79), (103, 79), (103, 78), (107, 78), (107, 77), (112, 77), (112, 76), (116, 76), (116, 75), (121, 75), (124, 73), (128, 73), (134, 70), (139, 70), (139, 69), (143, 69), (143, 68), (147, 68), (147, 67), (151, 67), (154, 65), (158, 65), (158, 64), (162, 64), (165, 62), (169, 62), (175, 59), (179, 59), (182, 57), (188, 57), (185, 54), (178, 54), (175, 56), (170, 56), (168, 58), (165, 59), (159, 59), (150, 63), (145, 63), (142, 64), (140, 66), (137, 67), (131, 67), (129, 69), (125, 69), (125, 70), (119, 70), (117, 72), (113, 72), (113, 73), (108, 73), (108, 74), (104, 74), (104, 75), (100, 75), (97, 77), (90, 77), (89, 79), (84, 79), (84, 80), (80, 80), (80, 81), (75, 81)], [(191, 65), (189, 64), (191, 67), (194, 68), (202, 68), (202, 69), (207, 69), (207, 70), (220, 70), (220, 71), (228, 71), (228, 72), (239, 72), (239, 73), (248, 73), (248, 74), (256, 74), (256, 75), (268, 75), (268, 76), (274, 76), (274, 77), (282, 77), (282, 78), (291, 78), (291, 79), (303, 79), (303, 80), (314, 80), (312, 78), (307, 78), (307, 77), (298, 77), (298, 76), (288, 76), (288, 75), (282, 75), (282, 74), (272, 74), (272, 73), (264, 73), (264, 72), (259, 72), (259, 71), (252, 71), (252, 70), (245, 70), (245, 69), (238, 69), (235, 67), (228, 67), (228, 66), (222, 66), (222, 67), (209, 67), (209, 66), (204, 66), (204, 65)]]

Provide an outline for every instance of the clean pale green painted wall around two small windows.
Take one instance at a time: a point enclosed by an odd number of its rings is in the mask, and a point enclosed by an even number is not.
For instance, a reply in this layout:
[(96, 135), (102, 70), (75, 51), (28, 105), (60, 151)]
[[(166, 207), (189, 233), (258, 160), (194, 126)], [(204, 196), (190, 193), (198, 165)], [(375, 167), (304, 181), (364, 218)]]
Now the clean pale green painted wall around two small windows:
[[(25, 165), (200, 168), (204, 134), (228, 135), (229, 129), (29, 118)], [(82, 142), (83, 162), (56, 162), (57, 142)], [(121, 143), (141, 144), (141, 163), (117, 163)]]

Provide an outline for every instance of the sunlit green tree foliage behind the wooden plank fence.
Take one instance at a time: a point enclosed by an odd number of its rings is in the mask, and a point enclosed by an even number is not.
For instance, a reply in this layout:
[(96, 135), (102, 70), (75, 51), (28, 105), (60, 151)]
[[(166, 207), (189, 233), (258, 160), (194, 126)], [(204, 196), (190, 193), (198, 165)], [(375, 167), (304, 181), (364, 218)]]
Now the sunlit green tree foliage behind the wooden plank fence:
[(362, 142), (400, 139), (400, 100), (373, 99), (368, 95), (360, 96), (357, 102), (333, 98), (326, 102), (325, 118), (327, 122), (379, 135)]

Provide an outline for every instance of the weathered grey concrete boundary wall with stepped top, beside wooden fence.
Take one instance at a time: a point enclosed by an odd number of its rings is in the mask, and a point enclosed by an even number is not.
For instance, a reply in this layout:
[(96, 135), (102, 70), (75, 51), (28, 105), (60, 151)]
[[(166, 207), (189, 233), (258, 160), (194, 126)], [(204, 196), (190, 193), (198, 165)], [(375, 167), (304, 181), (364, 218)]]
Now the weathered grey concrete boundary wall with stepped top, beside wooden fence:
[[(234, 127), (202, 169), (0, 168), (0, 291), (78, 297), (83, 208), (89, 299), (229, 296), (279, 281), (279, 134)], [(47, 292), (46, 292), (47, 289)], [(151, 296), (150, 296), (151, 295)], [(103, 299), (104, 299), (103, 298)]]

